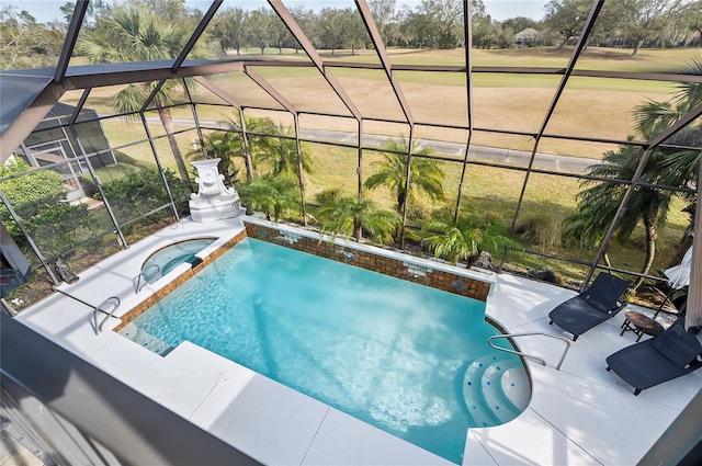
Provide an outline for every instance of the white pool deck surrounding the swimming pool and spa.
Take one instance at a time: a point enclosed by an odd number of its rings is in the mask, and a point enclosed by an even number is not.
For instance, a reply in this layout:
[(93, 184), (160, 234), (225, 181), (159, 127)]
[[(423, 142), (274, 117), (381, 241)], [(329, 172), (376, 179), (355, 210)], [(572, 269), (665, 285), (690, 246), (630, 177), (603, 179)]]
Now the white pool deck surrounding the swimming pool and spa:
[[(220, 236), (201, 252), (206, 254), (242, 228), (240, 219), (182, 220), (60, 289), (92, 305), (118, 296), (122, 315), (190, 266), (177, 268), (136, 294), (135, 275), (156, 249), (186, 238)], [(494, 283), (486, 312), (510, 333), (567, 337), (548, 325), (547, 314), (574, 292), (508, 274), (486, 280)], [(264, 464), (452, 464), (190, 342), (161, 357), (109, 331), (118, 319), (109, 319), (105, 331), (95, 334), (91, 316), (90, 307), (55, 293), (16, 320)], [(555, 365), (565, 346), (562, 341), (520, 338), (522, 351), (547, 362), (528, 363), (531, 402), (507, 424), (471, 429), (463, 464), (636, 464), (702, 389), (702, 371), (634, 396), (632, 387), (604, 370), (609, 354), (635, 341), (632, 332), (620, 337), (623, 320), (622, 311), (581, 336), (561, 371)]]

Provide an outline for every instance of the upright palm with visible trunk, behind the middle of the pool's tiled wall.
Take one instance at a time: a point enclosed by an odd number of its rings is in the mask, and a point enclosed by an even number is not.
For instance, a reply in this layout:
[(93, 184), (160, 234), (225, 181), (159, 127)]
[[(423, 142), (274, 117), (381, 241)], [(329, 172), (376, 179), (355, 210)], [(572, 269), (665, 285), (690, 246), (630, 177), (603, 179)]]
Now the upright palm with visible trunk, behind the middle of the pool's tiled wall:
[[(432, 154), (430, 148), (417, 149), (412, 143), (412, 155), (428, 156)], [(407, 186), (407, 162), (409, 157), (409, 141), (389, 139), (383, 145), (387, 152), (383, 152), (383, 160), (373, 164), (380, 167), (378, 171), (365, 180), (364, 186), (374, 190), (377, 186), (387, 186), (396, 193), (397, 212), (405, 209), (408, 197), (417, 191), (421, 191), (434, 201), (443, 201), (443, 171), (435, 160), (423, 157), (414, 157), (410, 166), (410, 184)]]

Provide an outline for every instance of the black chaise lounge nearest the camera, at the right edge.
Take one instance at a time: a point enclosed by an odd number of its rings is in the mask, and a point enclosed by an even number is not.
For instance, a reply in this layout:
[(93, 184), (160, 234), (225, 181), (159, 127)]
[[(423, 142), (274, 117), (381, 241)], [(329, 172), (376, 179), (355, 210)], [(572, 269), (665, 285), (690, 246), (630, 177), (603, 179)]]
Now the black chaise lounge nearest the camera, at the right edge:
[(614, 371), (634, 387), (634, 395), (654, 385), (672, 380), (702, 367), (702, 344), (684, 330), (678, 318), (657, 337), (632, 344), (607, 357), (607, 370)]

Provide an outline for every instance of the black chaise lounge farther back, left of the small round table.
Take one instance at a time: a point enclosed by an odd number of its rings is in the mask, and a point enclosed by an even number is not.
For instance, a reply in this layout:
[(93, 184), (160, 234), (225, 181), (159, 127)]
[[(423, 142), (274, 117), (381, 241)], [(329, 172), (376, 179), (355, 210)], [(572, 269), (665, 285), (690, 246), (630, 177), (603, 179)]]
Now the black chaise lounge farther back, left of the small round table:
[(620, 299), (629, 284), (611, 273), (600, 273), (588, 289), (548, 312), (551, 321), (573, 334), (576, 341), (592, 327), (614, 317), (624, 304)]

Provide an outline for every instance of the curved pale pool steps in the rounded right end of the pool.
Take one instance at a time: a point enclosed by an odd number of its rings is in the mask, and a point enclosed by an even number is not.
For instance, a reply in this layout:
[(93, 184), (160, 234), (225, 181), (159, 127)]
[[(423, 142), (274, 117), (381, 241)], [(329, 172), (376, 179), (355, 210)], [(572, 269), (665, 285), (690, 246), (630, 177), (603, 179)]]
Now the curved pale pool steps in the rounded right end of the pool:
[(526, 408), (530, 393), (529, 378), (518, 360), (486, 355), (466, 368), (463, 396), (477, 427), (511, 421)]

